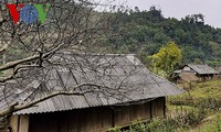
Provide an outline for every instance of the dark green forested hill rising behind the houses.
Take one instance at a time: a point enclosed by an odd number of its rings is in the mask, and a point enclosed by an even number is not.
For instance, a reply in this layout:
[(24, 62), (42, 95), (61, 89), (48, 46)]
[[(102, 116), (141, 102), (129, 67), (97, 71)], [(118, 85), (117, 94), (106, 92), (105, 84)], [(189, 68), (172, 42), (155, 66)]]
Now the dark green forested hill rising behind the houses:
[(221, 29), (204, 24), (203, 14), (187, 15), (180, 21), (164, 18), (164, 12), (151, 7), (149, 11), (117, 12), (113, 24), (120, 36), (108, 44), (116, 53), (136, 53), (143, 59), (173, 41), (182, 51), (182, 63), (221, 63)]

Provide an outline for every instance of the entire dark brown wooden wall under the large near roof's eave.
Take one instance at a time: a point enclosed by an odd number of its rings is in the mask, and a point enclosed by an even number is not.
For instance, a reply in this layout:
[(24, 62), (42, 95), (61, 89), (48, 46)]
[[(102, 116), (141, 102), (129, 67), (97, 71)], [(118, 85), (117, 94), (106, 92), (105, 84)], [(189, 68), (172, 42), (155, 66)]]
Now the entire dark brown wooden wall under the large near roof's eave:
[(23, 125), (23, 129), (29, 132), (105, 132), (113, 127), (128, 127), (131, 121), (147, 121), (164, 114), (165, 97), (141, 105), (30, 114), (29, 127)]

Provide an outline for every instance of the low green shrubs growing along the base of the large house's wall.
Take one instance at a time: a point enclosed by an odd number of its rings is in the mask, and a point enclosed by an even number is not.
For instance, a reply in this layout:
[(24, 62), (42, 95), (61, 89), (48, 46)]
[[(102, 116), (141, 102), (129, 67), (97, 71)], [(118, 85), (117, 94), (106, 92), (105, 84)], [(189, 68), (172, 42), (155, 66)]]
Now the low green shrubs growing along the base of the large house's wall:
[[(124, 132), (177, 132), (178, 129), (189, 129), (190, 125), (200, 123), (207, 116), (204, 109), (187, 110), (175, 118), (152, 119), (148, 122), (135, 121), (129, 130)], [(122, 128), (109, 129), (109, 132), (122, 132)]]

